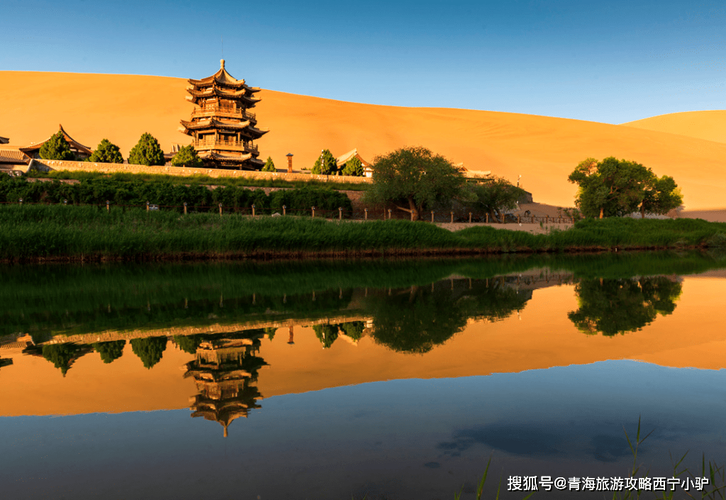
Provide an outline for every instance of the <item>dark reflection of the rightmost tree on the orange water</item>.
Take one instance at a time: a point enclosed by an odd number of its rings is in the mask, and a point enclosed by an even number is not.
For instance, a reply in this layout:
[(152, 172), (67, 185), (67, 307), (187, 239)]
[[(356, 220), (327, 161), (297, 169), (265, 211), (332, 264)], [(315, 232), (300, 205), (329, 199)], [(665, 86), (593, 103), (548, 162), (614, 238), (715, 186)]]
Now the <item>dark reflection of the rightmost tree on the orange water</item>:
[(584, 280), (575, 286), (579, 309), (567, 316), (584, 334), (624, 334), (673, 313), (681, 291), (665, 276)]

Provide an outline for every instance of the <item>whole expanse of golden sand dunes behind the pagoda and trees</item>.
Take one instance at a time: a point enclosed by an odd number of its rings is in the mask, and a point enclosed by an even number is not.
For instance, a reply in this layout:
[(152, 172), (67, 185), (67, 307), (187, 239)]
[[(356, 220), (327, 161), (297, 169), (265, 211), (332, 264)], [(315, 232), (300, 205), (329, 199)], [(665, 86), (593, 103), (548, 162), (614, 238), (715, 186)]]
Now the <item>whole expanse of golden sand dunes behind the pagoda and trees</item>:
[[(234, 61), (227, 66), (233, 76), (245, 78)], [(216, 62), (209, 74), (215, 70)], [(248, 84), (264, 86), (264, 81)], [(190, 141), (177, 130), (179, 120), (189, 119), (193, 109), (184, 98), (186, 86), (184, 78), (0, 71), (0, 135), (12, 145), (28, 145), (45, 140), (62, 124), (78, 142), (96, 148), (107, 138), (126, 157), (141, 134), (150, 132), (169, 151), (172, 144)], [(616, 156), (639, 161), (658, 175), (672, 175), (687, 209), (726, 205), (726, 135), (718, 124), (726, 111), (611, 125), (493, 111), (367, 105), (272, 90), (258, 97), (262, 101), (254, 111), (259, 126), (271, 131), (257, 142), (260, 158), (272, 156), (279, 169), (287, 165), (287, 153), (294, 154), (293, 166), (300, 169), (311, 167), (322, 148), (335, 156), (358, 148), (372, 161), (396, 148), (423, 145), (471, 170), (491, 170), (512, 182), (521, 174), (521, 185), (535, 201), (572, 206), (576, 187), (567, 176), (574, 166), (589, 156)]]

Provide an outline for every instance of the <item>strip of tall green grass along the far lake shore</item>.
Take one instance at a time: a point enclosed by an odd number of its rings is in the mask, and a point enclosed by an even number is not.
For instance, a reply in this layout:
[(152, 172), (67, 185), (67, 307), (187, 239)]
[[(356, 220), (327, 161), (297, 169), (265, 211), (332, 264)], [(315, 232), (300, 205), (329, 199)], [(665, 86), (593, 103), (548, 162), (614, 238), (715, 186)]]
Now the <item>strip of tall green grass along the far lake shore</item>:
[(94, 206), (0, 207), (0, 259), (175, 260), (364, 255), (456, 255), (726, 246), (726, 223), (694, 219), (584, 220), (565, 231), (469, 227), (454, 233), (427, 222), (327, 221)]

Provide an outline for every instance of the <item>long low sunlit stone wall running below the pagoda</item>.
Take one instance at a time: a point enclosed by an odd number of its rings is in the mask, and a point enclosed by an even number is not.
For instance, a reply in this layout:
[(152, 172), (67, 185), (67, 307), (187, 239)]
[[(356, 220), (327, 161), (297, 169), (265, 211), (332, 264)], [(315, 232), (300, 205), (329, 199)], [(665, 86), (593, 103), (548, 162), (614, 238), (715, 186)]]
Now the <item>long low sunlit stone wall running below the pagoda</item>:
[(247, 177), (249, 179), (285, 180), (285, 181), (311, 181), (320, 182), (351, 182), (356, 184), (370, 183), (370, 177), (350, 177), (347, 175), (327, 176), (287, 172), (254, 172), (250, 170), (227, 169), (189, 169), (183, 166), (146, 166), (131, 164), (103, 164), (91, 161), (62, 161), (38, 160), (30, 161), (30, 168), (48, 172), (50, 170), (68, 170), (69, 172), (103, 172), (115, 174), (126, 172), (128, 174), (168, 174), (168, 175), (207, 175), (209, 177)]

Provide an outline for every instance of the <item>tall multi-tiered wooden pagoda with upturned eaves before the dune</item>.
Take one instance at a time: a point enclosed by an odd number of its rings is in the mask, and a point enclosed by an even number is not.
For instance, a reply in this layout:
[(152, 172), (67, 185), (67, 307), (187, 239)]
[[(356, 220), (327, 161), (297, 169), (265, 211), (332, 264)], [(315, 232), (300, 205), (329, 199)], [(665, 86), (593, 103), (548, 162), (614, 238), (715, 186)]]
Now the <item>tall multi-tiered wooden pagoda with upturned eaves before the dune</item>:
[(255, 113), (259, 87), (248, 86), (224, 69), (201, 80), (189, 79), (187, 100), (198, 107), (192, 120), (181, 120), (179, 130), (193, 137), (192, 145), (205, 166), (222, 169), (259, 170), (264, 161), (253, 140), (269, 132), (257, 128)]

